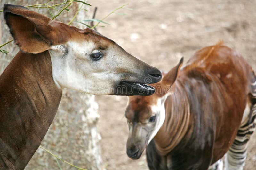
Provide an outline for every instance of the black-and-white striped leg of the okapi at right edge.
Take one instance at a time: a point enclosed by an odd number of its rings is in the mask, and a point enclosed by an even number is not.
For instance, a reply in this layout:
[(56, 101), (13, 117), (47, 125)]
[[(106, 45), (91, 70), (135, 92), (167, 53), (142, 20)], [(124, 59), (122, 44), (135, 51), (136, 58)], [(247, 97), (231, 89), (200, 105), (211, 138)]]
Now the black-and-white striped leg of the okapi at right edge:
[(225, 170), (243, 170), (247, 153), (247, 142), (249, 141), (252, 133), (255, 131), (256, 104), (254, 104), (251, 108), (252, 109), (250, 110), (249, 114), (248, 112), (244, 112), (244, 114), (248, 115), (247, 119), (242, 121), (236, 138), (225, 155)]

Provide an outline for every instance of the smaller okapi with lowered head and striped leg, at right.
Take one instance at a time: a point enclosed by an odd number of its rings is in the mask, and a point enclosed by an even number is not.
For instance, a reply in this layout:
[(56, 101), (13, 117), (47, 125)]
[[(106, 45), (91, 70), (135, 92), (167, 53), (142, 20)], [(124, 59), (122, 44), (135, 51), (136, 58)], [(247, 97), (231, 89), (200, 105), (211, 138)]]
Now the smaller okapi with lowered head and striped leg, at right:
[[(183, 59), (153, 86), (152, 96), (130, 96), (127, 155), (147, 147), (149, 169), (243, 169), (255, 129), (256, 77), (234, 50), (217, 44)], [(148, 145), (148, 146), (147, 146)], [(218, 162), (221, 163), (218, 165)]]

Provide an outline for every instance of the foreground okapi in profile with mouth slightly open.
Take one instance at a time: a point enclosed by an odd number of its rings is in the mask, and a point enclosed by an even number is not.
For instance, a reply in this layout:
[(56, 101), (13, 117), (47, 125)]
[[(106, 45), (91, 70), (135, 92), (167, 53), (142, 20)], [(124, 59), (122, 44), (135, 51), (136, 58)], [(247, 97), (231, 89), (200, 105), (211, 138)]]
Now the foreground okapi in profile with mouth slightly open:
[(0, 76), (0, 169), (25, 168), (52, 123), (63, 88), (150, 95), (155, 90), (143, 80), (161, 80), (158, 69), (92, 29), (10, 4), (4, 5), (4, 18), (20, 51)]

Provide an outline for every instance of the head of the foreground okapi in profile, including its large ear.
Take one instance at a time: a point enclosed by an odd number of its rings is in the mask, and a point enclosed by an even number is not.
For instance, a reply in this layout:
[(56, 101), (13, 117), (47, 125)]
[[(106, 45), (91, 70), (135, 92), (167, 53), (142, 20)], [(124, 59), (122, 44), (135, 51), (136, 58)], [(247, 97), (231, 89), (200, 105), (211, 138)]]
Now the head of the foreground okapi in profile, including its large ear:
[(161, 80), (158, 69), (92, 29), (78, 29), (11, 4), (4, 5), (4, 18), (22, 51), (49, 51), (53, 80), (61, 89), (102, 95), (151, 95), (155, 89), (145, 84)]

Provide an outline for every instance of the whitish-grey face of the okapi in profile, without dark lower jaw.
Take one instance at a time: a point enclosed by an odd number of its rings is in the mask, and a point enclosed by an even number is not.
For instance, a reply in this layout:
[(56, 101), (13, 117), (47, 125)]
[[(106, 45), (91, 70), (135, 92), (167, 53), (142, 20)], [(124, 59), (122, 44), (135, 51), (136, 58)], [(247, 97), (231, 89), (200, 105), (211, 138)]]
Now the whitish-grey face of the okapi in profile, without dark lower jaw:
[(148, 65), (115, 43), (105, 49), (93, 41), (73, 41), (52, 46), (49, 53), (53, 79), (60, 88), (109, 95), (121, 81), (138, 82), (147, 76)]

